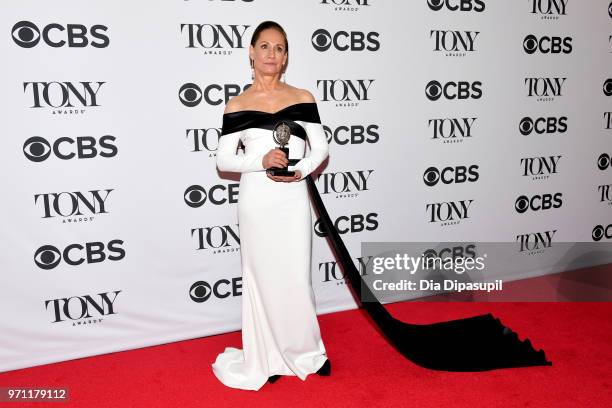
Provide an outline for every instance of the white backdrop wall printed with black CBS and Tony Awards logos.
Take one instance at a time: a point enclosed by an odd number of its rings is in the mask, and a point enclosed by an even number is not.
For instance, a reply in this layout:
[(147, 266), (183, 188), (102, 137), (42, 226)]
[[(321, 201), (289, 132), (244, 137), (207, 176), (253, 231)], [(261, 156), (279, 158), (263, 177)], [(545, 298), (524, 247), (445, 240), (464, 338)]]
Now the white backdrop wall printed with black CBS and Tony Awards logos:
[[(508, 281), (610, 262), (609, 0), (1, 7), (1, 371), (240, 329), (240, 176), (215, 150), (264, 20), (360, 268), (382, 241), (506, 243)], [(355, 308), (316, 220), (317, 310)]]

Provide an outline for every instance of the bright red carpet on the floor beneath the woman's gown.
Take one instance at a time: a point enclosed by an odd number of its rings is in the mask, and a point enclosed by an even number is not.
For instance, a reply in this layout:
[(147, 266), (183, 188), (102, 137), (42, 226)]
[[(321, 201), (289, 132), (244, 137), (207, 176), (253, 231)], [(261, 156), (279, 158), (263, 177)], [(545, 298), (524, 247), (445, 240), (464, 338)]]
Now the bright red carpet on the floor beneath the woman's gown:
[[(610, 303), (404, 302), (404, 321), (430, 323), (492, 312), (544, 348), (552, 367), (450, 373), (422, 369), (387, 344), (365, 312), (319, 316), (332, 376), (281, 377), (259, 392), (226, 388), (210, 364), (240, 332), (0, 373), (0, 387), (54, 386), (79, 407), (610, 407)], [(452, 339), (449, 339), (452, 342)]]

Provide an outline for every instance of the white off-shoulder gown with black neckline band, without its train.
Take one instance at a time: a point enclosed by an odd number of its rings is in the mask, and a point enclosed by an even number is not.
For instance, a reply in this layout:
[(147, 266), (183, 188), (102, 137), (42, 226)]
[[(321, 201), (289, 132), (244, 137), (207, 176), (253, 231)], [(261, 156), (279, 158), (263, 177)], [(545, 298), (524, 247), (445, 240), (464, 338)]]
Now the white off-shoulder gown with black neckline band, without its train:
[[(262, 165), (277, 146), (279, 121), (291, 128), (289, 158), (301, 159), (302, 179), (275, 182)], [(310, 154), (306, 152), (306, 139)], [(244, 154), (236, 154), (239, 140)], [(242, 262), (242, 349), (226, 347), (212, 364), (228, 387), (259, 390), (269, 376), (315, 373), (327, 359), (311, 283), (312, 219), (306, 180), (328, 155), (316, 103), (278, 112), (223, 115), (217, 167), (239, 172), (238, 226)], [(297, 160), (295, 160), (297, 161)]]

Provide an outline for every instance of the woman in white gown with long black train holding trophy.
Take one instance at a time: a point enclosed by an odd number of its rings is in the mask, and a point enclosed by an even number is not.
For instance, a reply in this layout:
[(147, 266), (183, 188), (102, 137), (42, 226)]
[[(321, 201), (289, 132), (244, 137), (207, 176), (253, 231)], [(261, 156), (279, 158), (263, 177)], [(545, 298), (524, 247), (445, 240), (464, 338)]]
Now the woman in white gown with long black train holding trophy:
[[(217, 166), (241, 172), (238, 218), (243, 269), (243, 350), (228, 347), (213, 364), (226, 385), (259, 389), (268, 376), (313, 372), (329, 375), (331, 365), (321, 341), (310, 283), (311, 217), (307, 193), (319, 214), (322, 230), (338, 264), (360, 302), (389, 342), (407, 359), (443, 371), (485, 371), (499, 368), (551, 365), (542, 350), (518, 335), (492, 314), (433, 324), (410, 324), (395, 319), (376, 300), (362, 276), (316, 189), (310, 173), (328, 154), (312, 95), (279, 80), (287, 67), (287, 37), (276, 23), (264, 22), (253, 34), (249, 49), (253, 85), (232, 99), (223, 115)], [(285, 123), (291, 130), (289, 159), (274, 149), (272, 135)], [(296, 137), (293, 137), (296, 136)], [(304, 154), (305, 139), (311, 152)], [(238, 141), (246, 146), (235, 155)], [(292, 176), (273, 176), (264, 170), (289, 165)], [(302, 180), (306, 181), (304, 185)]]

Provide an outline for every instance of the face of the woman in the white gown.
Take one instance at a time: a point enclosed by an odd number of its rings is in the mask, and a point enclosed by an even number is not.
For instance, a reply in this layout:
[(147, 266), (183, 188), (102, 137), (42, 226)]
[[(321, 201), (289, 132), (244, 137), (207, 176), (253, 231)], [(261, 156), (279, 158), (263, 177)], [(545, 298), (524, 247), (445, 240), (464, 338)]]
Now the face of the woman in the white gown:
[(249, 46), (249, 56), (258, 74), (282, 73), (283, 65), (287, 62), (285, 37), (273, 28), (263, 30), (259, 33), (255, 46)]

